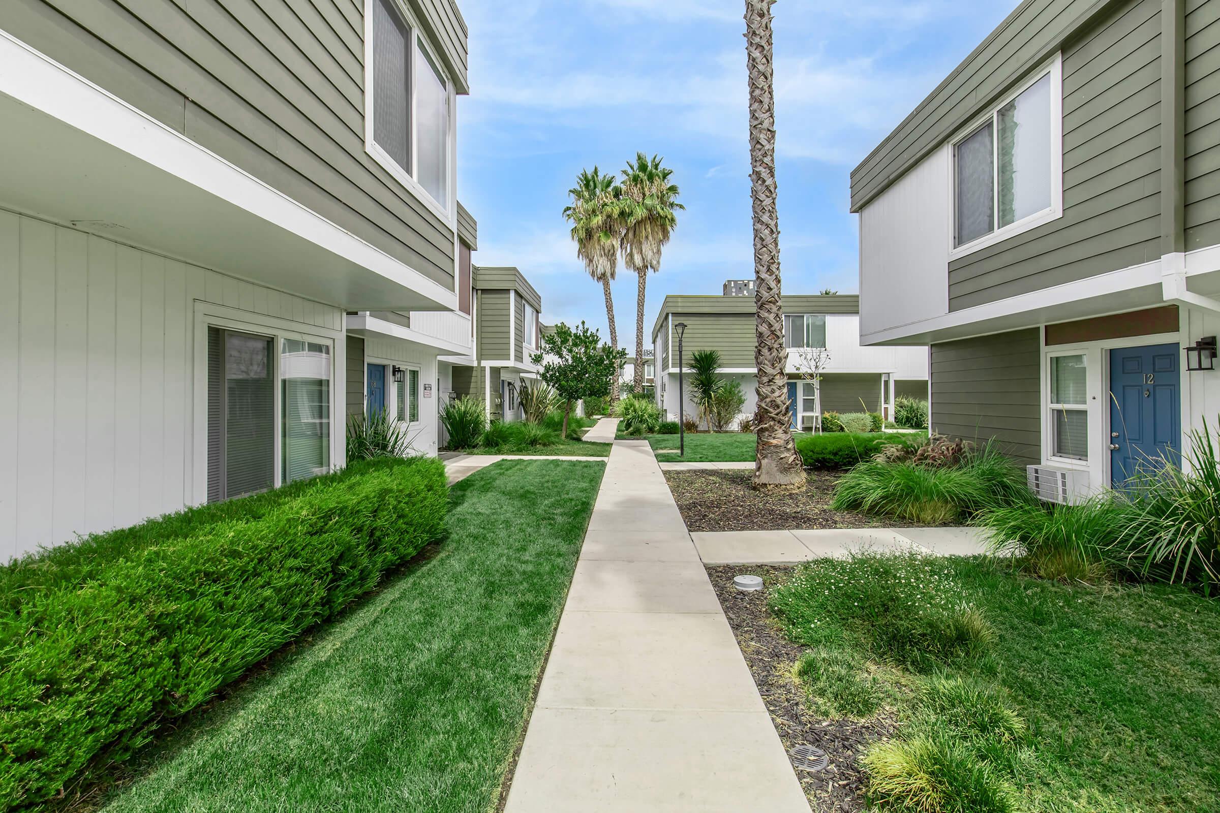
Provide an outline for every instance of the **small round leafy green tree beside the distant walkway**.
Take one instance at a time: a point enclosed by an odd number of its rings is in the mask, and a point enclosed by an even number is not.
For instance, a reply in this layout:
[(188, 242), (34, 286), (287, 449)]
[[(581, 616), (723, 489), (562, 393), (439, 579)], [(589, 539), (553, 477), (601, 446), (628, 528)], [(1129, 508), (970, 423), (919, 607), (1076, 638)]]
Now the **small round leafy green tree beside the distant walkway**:
[(590, 330), (583, 321), (575, 329), (560, 322), (553, 333), (542, 338), (542, 350), (531, 360), (542, 367), (539, 377), (555, 388), (564, 402), (564, 438), (567, 438), (572, 405), (581, 399), (609, 395), (626, 357), (626, 350), (603, 344), (598, 332)]

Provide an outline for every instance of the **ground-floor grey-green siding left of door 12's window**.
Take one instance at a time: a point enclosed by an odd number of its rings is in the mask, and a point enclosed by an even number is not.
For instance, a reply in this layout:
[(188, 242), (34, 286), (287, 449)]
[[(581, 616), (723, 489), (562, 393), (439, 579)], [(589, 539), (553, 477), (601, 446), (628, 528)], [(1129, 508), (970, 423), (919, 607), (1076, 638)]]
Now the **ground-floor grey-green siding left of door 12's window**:
[(1038, 329), (932, 345), (931, 427), (980, 444), (996, 439), (1022, 463), (1042, 457)]

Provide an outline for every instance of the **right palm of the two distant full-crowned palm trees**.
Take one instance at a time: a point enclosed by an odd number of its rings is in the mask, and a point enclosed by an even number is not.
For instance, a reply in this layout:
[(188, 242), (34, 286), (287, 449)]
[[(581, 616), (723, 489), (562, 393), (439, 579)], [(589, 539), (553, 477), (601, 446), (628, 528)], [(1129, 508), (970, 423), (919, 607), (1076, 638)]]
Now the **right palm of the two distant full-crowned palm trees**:
[(630, 206), (623, 222), (622, 262), (639, 274), (636, 293), (636, 391), (644, 391), (644, 289), (648, 272), (661, 269), (661, 249), (677, 225), (678, 188), (670, 183), (672, 169), (661, 158), (636, 154), (622, 171), (622, 195)]

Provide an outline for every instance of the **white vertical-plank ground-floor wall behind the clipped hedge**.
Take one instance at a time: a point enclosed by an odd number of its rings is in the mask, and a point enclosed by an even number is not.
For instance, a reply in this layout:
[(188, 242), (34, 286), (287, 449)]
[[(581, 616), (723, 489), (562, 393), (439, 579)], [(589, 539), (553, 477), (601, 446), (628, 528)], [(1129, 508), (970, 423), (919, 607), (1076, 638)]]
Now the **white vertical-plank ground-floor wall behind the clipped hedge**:
[(339, 308), (0, 211), (0, 561), (194, 501), (195, 300), (343, 330)]

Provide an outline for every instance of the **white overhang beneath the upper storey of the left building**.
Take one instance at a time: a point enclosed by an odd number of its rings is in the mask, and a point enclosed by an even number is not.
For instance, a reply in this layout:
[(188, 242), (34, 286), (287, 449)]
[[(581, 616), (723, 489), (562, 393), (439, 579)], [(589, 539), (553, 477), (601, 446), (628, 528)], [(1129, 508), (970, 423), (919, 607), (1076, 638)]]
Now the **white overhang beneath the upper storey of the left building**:
[(0, 30), (0, 205), (345, 310), (454, 291)]

